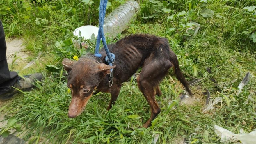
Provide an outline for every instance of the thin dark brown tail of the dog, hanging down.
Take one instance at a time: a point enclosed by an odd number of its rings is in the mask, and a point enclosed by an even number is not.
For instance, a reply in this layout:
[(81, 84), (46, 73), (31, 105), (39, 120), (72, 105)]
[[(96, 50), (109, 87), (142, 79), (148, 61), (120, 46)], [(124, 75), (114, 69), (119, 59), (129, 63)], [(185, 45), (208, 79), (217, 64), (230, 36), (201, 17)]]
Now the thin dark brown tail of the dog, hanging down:
[(170, 61), (173, 64), (173, 70), (174, 70), (174, 74), (177, 77), (177, 79), (183, 84), (183, 86), (186, 88), (186, 90), (188, 91), (189, 95), (192, 96), (192, 93), (189, 89), (189, 83), (187, 82), (187, 80), (184, 78), (183, 74), (180, 71), (179, 68), (179, 61), (177, 56), (174, 54), (173, 51), (170, 51)]

